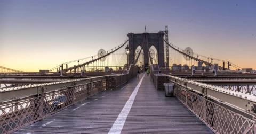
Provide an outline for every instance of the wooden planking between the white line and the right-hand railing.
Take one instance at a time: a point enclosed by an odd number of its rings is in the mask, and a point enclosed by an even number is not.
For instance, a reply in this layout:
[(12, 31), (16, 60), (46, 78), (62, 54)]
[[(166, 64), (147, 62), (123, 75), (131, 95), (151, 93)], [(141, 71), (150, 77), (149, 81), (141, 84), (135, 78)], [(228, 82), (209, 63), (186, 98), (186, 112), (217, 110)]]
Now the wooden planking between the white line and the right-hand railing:
[(213, 133), (175, 97), (165, 97), (145, 77), (122, 133)]

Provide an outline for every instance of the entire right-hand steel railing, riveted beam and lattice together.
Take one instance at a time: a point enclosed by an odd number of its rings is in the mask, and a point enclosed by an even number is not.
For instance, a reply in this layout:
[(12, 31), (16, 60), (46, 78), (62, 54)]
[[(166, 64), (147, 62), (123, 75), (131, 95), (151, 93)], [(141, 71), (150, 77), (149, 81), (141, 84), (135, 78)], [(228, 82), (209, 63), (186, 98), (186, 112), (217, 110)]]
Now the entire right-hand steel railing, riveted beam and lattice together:
[[(154, 67), (151, 67), (154, 70)], [(154, 84), (173, 82), (174, 96), (215, 133), (256, 133), (256, 97), (228, 88), (151, 73)], [(234, 92), (234, 93), (233, 93)], [(254, 110), (254, 111), (253, 111)]]

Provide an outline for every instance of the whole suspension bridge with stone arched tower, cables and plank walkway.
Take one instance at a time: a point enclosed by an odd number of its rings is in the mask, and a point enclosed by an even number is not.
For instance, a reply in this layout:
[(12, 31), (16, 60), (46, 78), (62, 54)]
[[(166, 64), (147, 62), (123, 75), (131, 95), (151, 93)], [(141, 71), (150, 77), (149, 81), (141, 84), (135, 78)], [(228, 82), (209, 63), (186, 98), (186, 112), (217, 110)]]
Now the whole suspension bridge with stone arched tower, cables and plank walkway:
[(255, 133), (256, 74), (168, 37), (128, 33), (38, 72), (0, 66), (0, 133)]

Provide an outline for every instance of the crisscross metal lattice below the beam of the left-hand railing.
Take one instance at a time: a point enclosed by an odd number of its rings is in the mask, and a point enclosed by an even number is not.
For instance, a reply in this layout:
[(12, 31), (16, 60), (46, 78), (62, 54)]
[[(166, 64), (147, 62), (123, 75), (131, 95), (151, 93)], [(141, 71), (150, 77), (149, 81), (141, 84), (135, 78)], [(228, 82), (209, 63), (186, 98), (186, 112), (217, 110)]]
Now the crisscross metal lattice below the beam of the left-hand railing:
[(106, 81), (55, 90), (0, 105), (0, 133), (10, 133), (106, 89)]

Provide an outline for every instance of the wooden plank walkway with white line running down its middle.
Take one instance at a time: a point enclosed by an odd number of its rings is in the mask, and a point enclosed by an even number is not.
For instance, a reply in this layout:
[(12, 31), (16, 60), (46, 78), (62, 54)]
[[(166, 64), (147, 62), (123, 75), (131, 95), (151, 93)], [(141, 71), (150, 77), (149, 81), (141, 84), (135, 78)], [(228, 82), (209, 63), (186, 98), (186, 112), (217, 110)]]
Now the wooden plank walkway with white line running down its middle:
[(150, 76), (145, 75), (138, 92), (133, 92), (142, 75), (119, 90), (103, 91), (15, 133), (213, 133), (178, 99), (156, 90)]

